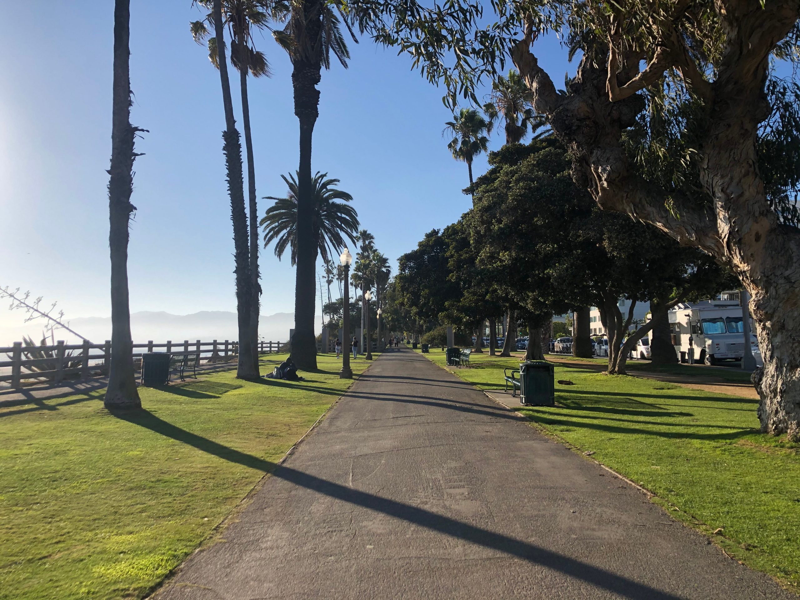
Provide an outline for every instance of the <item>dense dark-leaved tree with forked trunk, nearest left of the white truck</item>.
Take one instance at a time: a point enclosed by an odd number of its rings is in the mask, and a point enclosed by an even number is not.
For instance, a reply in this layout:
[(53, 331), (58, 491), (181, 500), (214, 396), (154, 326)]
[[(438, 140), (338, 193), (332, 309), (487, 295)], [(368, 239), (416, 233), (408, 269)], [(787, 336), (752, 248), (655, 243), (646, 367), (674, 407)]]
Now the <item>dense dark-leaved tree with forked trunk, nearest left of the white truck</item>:
[[(625, 373), (630, 348), (652, 327), (628, 335), (636, 302), (670, 308), (724, 285), (724, 271), (702, 253), (600, 210), (572, 181), (570, 156), (557, 138), (504, 146), (490, 154), (490, 165), (475, 184), (470, 211), (478, 262), (522, 306), (531, 331), (551, 314), (598, 306), (609, 332), (610, 373)], [(632, 301), (627, 314), (620, 298)]]

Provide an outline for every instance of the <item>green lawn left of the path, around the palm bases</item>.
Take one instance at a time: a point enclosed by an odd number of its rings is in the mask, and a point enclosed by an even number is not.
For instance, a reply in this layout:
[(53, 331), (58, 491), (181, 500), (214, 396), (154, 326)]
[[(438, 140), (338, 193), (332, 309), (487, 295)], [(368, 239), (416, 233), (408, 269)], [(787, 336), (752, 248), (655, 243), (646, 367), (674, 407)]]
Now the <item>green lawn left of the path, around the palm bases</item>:
[(305, 382), (226, 370), (140, 388), (144, 410), (125, 416), (102, 390), (0, 402), (0, 598), (141, 598), (342, 394), (339, 365), (319, 355)]

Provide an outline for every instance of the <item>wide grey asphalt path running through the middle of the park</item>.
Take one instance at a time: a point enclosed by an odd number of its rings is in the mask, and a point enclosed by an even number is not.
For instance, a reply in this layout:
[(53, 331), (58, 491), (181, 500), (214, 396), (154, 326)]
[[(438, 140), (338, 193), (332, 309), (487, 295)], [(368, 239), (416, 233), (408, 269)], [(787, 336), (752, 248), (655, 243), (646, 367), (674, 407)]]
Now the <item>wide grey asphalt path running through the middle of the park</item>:
[(797, 597), (411, 350), (383, 354), (158, 600)]

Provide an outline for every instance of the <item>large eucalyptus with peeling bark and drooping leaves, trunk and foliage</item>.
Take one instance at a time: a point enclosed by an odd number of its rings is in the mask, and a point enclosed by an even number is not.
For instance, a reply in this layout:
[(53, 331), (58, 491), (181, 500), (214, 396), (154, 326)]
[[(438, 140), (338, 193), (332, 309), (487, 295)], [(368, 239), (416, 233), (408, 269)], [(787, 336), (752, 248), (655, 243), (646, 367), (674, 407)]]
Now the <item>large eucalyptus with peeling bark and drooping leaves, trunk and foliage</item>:
[[(734, 271), (750, 292), (764, 358), (754, 376), (762, 430), (800, 437), (800, 337), (792, 333), (800, 324), (800, 4), (494, 3), (496, 18), (474, 0), (438, 11), (395, 5), (354, 0), (353, 9), (378, 42), (445, 82), (450, 106), (459, 94), (477, 103), (481, 78), (494, 78), (510, 54), (598, 206)], [(536, 53), (553, 30), (583, 54), (566, 93)], [(788, 81), (775, 61), (790, 63)]]

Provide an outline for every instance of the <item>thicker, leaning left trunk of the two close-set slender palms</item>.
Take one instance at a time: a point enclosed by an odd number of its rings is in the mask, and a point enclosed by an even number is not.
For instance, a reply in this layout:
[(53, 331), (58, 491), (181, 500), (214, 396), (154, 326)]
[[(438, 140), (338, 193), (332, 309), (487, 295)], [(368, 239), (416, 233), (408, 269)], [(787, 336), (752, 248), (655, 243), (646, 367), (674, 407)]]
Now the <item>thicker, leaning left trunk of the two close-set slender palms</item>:
[(230, 220), (234, 224), (234, 274), (236, 275), (236, 313), (239, 335), (236, 377), (256, 379), (258, 378), (258, 370), (254, 370), (253, 346), (250, 344), (250, 304), (253, 294), (250, 280), (250, 248), (247, 232), (247, 214), (245, 212), (244, 180), (242, 178), (242, 142), (236, 129), (234, 104), (230, 98), (221, 0), (214, 0), (214, 33), (217, 38), (222, 106), (225, 109), (222, 153), (225, 154), (228, 194), (230, 195)]

